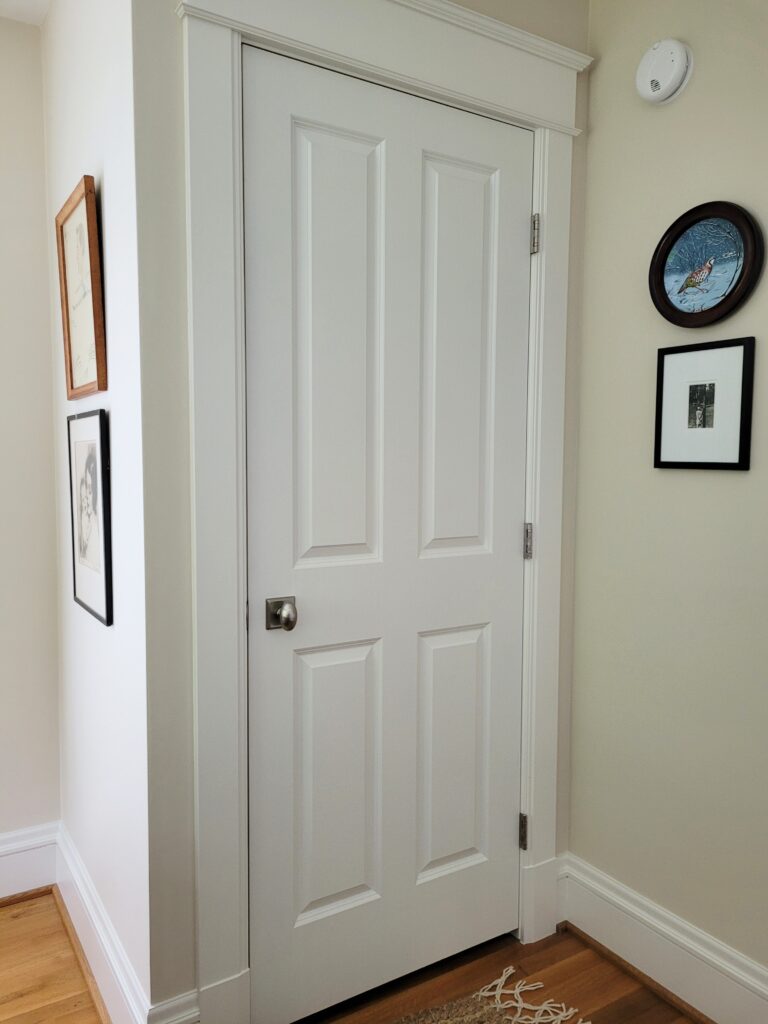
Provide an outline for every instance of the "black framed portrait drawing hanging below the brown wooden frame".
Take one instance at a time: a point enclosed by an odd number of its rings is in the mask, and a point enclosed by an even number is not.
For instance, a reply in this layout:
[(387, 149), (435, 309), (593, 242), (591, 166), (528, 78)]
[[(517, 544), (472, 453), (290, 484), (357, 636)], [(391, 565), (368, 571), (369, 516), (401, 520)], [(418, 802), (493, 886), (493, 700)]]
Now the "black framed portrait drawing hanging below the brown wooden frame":
[(112, 626), (110, 436), (103, 409), (70, 416), (70, 508), (75, 600)]

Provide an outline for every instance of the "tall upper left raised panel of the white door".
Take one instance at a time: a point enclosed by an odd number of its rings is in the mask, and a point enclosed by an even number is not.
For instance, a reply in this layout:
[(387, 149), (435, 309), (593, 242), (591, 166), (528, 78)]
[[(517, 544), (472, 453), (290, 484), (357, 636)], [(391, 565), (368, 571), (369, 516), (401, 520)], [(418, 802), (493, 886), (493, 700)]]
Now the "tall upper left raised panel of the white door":
[(296, 560), (371, 560), (381, 495), (381, 143), (295, 121), (293, 165)]

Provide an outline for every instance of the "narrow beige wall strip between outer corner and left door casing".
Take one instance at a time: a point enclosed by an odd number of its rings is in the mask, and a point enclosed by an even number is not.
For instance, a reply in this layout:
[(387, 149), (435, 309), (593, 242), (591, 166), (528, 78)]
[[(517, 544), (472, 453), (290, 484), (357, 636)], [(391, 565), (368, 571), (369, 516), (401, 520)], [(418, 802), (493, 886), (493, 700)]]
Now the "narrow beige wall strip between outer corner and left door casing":
[(152, 996), (195, 987), (189, 411), (181, 24), (133, 0)]

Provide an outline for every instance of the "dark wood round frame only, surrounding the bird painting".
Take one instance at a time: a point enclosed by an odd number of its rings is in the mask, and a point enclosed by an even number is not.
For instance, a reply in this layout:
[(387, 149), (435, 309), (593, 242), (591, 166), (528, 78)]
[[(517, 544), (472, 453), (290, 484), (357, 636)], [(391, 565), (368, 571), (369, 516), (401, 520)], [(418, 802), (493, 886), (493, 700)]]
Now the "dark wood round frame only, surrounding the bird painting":
[[(710, 217), (722, 217), (738, 228), (744, 243), (744, 263), (741, 276), (733, 291), (716, 306), (703, 309), (701, 312), (686, 313), (673, 305), (667, 296), (667, 289), (664, 285), (667, 257), (681, 234), (699, 220), (707, 220)], [(725, 202), (702, 203), (700, 206), (694, 206), (692, 210), (688, 210), (682, 217), (678, 217), (675, 223), (667, 228), (653, 253), (648, 270), (648, 288), (653, 305), (663, 316), (672, 324), (677, 324), (678, 327), (707, 327), (708, 324), (724, 319), (741, 305), (757, 285), (760, 271), (763, 268), (763, 233), (760, 226), (752, 214), (742, 207), (736, 206), (735, 203)]]

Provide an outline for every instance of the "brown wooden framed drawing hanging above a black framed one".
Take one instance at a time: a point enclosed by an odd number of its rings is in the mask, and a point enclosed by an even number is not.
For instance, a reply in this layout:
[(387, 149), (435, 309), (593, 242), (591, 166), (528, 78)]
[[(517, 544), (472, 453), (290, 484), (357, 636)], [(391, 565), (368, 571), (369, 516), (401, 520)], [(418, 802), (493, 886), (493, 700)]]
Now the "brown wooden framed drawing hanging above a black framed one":
[(56, 216), (67, 397), (106, 390), (106, 345), (93, 178), (86, 174)]

